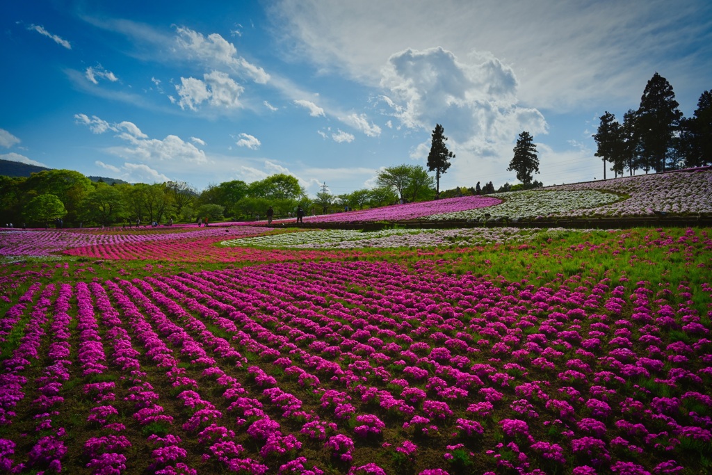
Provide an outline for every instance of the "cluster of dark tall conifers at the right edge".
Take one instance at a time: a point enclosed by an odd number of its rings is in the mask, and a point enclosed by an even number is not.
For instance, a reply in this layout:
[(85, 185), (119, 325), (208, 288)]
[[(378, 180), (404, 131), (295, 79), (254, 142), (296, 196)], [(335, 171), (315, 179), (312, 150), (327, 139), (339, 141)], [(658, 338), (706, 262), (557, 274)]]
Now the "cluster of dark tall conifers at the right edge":
[(712, 93), (704, 91), (693, 116), (684, 118), (672, 85), (658, 73), (646, 84), (637, 110), (623, 122), (606, 111), (600, 117), (596, 157), (614, 176), (712, 165)]

